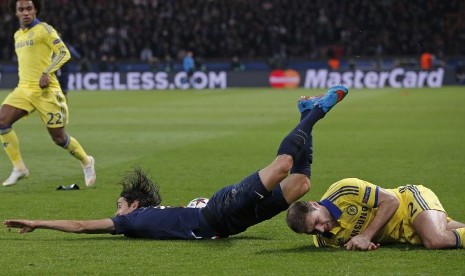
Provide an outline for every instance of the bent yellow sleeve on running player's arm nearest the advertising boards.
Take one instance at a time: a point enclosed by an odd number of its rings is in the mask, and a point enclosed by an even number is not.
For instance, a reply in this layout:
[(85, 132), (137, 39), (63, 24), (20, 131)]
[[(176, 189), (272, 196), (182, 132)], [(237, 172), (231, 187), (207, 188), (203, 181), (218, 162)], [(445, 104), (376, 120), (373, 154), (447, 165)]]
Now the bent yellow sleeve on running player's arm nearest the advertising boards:
[(57, 31), (50, 25), (43, 23), (45, 29), (47, 30), (47, 34), (45, 37), (45, 43), (47, 44), (50, 49), (53, 51), (52, 62), (50, 65), (44, 69), (43, 73), (54, 73), (60, 67), (65, 64), (70, 58), (71, 54), (66, 47), (65, 43), (61, 40), (60, 36), (58, 35)]

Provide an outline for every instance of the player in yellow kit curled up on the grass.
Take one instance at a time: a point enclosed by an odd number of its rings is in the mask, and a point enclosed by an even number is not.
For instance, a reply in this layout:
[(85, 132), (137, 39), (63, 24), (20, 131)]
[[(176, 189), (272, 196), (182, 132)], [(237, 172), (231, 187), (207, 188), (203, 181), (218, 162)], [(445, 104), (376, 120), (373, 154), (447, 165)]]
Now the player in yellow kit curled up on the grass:
[(295, 232), (314, 235), (317, 247), (376, 250), (388, 243), (465, 247), (465, 224), (449, 218), (438, 197), (422, 185), (383, 189), (357, 178), (343, 179), (319, 202), (293, 203), (286, 220)]

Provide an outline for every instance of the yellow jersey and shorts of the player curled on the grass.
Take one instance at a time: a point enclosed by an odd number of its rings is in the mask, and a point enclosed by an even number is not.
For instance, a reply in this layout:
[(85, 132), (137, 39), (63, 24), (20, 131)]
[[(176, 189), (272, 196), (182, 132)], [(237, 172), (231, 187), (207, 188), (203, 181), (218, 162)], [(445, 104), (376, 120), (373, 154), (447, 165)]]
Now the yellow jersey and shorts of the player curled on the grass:
[[(314, 244), (317, 247), (341, 247), (352, 237), (365, 231), (378, 211), (379, 189), (378, 186), (357, 178), (347, 178), (332, 184), (319, 203), (328, 208), (338, 226), (328, 233), (314, 235)], [(384, 190), (395, 195), (400, 205), (372, 241), (381, 244), (421, 244), (413, 227), (413, 220), (424, 210), (445, 212), (437, 196), (421, 185)]]

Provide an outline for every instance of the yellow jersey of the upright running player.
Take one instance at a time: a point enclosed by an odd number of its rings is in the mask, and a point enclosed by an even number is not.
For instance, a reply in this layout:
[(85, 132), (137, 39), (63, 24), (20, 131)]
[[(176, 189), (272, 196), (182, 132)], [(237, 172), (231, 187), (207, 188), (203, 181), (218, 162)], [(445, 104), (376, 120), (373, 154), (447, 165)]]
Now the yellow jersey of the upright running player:
[(14, 35), (18, 57), (18, 87), (37, 88), (43, 73), (50, 74), (50, 87), (59, 88), (55, 75), (71, 54), (57, 31), (45, 22), (35, 19), (26, 29)]

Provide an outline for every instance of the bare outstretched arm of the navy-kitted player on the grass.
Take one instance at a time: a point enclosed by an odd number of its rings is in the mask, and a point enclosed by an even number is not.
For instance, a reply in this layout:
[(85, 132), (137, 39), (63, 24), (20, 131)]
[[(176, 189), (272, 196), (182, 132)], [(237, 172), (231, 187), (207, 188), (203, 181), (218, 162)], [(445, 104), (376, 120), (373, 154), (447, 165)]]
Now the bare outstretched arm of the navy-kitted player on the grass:
[(19, 233), (32, 232), (35, 229), (51, 229), (70, 233), (103, 234), (112, 233), (115, 225), (111, 219), (100, 220), (5, 220), (3, 224), (10, 228), (20, 228)]

